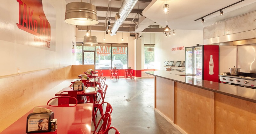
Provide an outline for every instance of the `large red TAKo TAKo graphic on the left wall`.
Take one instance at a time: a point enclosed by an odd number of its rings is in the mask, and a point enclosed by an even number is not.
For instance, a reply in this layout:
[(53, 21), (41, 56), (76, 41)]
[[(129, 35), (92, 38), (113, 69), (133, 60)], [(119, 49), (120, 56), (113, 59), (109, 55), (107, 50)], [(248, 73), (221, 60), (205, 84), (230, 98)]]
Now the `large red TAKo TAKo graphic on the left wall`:
[(34, 42), (50, 48), (51, 25), (46, 19), (42, 0), (17, 0), (19, 2), (19, 29), (36, 35)]

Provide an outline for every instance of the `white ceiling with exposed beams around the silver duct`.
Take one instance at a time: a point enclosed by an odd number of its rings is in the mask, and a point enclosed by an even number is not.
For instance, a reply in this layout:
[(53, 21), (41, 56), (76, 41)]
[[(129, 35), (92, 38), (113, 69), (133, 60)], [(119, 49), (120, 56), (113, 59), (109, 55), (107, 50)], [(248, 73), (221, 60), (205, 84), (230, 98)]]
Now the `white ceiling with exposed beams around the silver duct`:
[[(167, 0), (170, 13), (163, 14), (163, 5), (165, 0), (139, 0), (128, 15), (124, 23), (119, 27), (118, 32), (163, 32), (166, 21), (171, 29), (184, 30), (203, 30), (201, 19), (203, 16), (218, 11), (228, 5), (234, 4), (239, 0)], [(81, 0), (66, 0), (70, 2), (81, 2)], [(82, 0), (96, 6), (99, 24), (93, 25), (93, 31), (106, 31), (106, 23), (111, 18), (111, 26), (115, 21), (115, 15), (119, 11), (123, 0)], [(239, 9), (246, 5), (255, 3), (255, 0), (245, 0), (226, 9), (225, 13)], [(220, 12), (213, 13), (204, 18), (204, 21), (210, 20), (220, 15)], [(194, 21), (199, 19), (197, 21)], [(110, 26), (110, 29), (111, 29)], [(141, 27), (140, 27), (141, 26)], [(89, 26), (90, 27), (90, 26)], [(90, 29), (90, 28), (89, 28)], [(87, 26), (78, 26), (78, 30), (87, 30)]]

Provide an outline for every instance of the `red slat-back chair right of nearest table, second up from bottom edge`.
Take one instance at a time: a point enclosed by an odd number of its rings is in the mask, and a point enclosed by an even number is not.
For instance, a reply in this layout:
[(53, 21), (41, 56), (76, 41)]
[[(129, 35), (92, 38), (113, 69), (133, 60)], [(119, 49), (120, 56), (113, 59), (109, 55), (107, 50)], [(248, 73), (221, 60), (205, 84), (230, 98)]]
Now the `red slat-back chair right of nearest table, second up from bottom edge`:
[[(101, 121), (103, 121), (103, 123), (101, 124)], [(94, 131), (91, 131), (91, 134), (104, 134), (107, 132), (107, 130), (109, 129), (110, 125), (111, 125), (111, 114), (109, 112), (105, 113), (104, 115), (102, 115), (100, 117), (100, 120), (97, 124), (97, 126), (95, 127)], [(100, 126), (101, 124), (101, 126)]]

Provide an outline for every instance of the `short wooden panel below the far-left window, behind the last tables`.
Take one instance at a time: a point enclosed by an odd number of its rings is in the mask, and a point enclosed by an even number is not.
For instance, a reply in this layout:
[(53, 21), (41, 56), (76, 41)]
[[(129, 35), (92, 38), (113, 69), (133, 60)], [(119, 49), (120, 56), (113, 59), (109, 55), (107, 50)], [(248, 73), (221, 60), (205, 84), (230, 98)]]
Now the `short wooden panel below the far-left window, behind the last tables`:
[(94, 65), (72, 65), (72, 76), (78, 76), (79, 74), (82, 74), (88, 69), (94, 70)]

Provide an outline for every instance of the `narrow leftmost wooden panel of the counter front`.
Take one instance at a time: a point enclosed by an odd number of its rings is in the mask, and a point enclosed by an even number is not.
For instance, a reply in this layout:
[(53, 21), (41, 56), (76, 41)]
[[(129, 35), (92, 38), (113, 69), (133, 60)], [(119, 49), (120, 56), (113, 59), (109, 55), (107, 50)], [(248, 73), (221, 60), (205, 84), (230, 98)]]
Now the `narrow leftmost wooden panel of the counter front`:
[(172, 122), (174, 120), (174, 81), (156, 78), (156, 109)]

